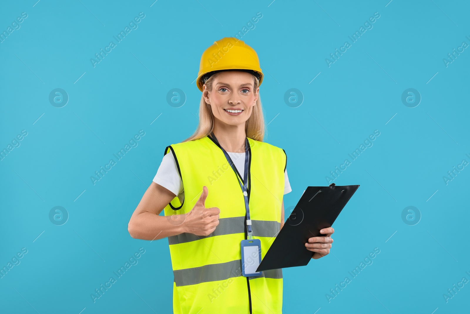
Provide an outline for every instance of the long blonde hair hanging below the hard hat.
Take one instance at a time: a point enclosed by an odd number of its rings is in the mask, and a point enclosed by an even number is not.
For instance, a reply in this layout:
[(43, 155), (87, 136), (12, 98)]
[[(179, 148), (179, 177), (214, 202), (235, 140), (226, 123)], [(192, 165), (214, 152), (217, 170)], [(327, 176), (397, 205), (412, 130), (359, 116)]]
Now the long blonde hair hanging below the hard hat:
[[(205, 81), (207, 85), (207, 89), (212, 91), (212, 86), (215, 77), (219, 73), (215, 73), (211, 75), (211, 77)], [(259, 80), (256, 76), (253, 76), (254, 81), (254, 92), (259, 86)], [(204, 94), (201, 96), (201, 104), (199, 105), (199, 124), (197, 125), (197, 129), (193, 135), (185, 139), (183, 142), (192, 141), (195, 139), (203, 138), (209, 134), (214, 129), (214, 115), (212, 114), (211, 105), (207, 104), (204, 99)], [(256, 104), (253, 106), (253, 110), (251, 111), (251, 116), (245, 122), (245, 134), (246, 137), (250, 137), (254, 140), (263, 141), (265, 133), (265, 124), (264, 124), (264, 116), (263, 116), (263, 108), (261, 106), (261, 97), (259, 96), (258, 92), (258, 99), (256, 100)]]

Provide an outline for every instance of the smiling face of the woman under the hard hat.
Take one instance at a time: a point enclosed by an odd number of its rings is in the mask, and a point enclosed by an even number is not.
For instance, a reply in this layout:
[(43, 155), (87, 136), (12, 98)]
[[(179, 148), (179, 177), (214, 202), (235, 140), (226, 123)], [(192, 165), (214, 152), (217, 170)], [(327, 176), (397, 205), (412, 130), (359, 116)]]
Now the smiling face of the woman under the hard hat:
[(214, 78), (212, 90), (203, 85), (205, 102), (211, 105), (216, 120), (230, 125), (245, 125), (258, 99), (253, 90), (253, 75), (243, 71), (223, 71)]

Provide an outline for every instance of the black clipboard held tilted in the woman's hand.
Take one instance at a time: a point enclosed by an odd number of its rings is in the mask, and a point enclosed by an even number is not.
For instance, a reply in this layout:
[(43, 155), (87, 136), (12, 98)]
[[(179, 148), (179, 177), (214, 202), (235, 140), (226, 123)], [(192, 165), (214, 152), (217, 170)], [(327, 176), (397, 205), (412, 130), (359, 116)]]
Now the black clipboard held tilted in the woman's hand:
[(307, 186), (256, 271), (307, 265), (314, 252), (307, 250), (305, 243), (325, 235), (320, 230), (333, 225), (358, 187), (334, 183)]

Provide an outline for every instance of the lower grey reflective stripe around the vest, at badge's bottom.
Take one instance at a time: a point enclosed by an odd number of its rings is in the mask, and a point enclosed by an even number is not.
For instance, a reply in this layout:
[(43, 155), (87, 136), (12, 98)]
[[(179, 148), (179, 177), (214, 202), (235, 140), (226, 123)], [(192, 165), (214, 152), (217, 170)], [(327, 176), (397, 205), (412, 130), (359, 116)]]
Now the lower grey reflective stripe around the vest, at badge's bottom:
[[(174, 270), (173, 275), (176, 286), (187, 286), (201, 282), (227, 280), (232, 277), (243, 276), (242, 262), (241, 260), (235, 260), (227, 263)], [(282, 269), (264, 271), (261, 276), (250, 277), (250, 280), (260, 277), (280, 279), (282, 278)]]

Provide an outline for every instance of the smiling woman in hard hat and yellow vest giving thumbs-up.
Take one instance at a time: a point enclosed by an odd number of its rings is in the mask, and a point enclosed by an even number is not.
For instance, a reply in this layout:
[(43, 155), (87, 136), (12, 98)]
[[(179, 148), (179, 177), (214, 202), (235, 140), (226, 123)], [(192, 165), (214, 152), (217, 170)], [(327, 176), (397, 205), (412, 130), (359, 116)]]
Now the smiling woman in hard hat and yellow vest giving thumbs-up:
[[(282, 270), (248, 276), (241, 261), (246, 239), (266, 254), (291, 191), (284, 150), (262, 142), (262, 81), (258, 55), (243, 41), (223, 38), (204, 51), (196, 132), (166, 147), (129, 221), (133, 238), (168, 237), (174, 313), (282, 312)], [(305, 243), (312, 258), (329, 253), (333, 232)]]

